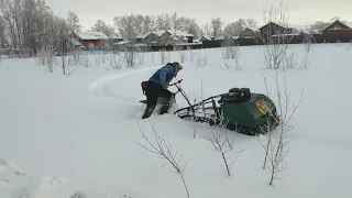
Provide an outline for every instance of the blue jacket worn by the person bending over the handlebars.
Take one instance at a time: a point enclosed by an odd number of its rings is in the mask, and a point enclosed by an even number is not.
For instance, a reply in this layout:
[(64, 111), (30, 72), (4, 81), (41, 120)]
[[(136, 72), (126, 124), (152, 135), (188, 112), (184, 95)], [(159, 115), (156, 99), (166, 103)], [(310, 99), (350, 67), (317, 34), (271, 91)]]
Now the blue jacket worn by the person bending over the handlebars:
[(156, 70), (154, 75), (150, 78), (150, 81), (155, 81), (158, 85), (167, 86), (174, 77), (176, 77), (176, 69), (174, 66), (167, 64), (158, 70)]

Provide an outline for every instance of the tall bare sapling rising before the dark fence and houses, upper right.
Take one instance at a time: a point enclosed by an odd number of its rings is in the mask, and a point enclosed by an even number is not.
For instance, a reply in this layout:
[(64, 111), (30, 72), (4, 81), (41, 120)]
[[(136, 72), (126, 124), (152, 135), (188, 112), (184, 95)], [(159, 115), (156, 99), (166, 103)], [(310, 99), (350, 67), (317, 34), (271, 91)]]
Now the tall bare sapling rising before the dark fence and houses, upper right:
[(264, 63), (268, 69), (279, 69), (284, 65), (290, 43), (294, 38), (292, 29), (288, 29), (286, 12), (280, 7), (277, 10), (271, 8), (266, 13), (264, 11), (264, 23), (274, 23), (267, 25), (260, 34), (264, 52)]

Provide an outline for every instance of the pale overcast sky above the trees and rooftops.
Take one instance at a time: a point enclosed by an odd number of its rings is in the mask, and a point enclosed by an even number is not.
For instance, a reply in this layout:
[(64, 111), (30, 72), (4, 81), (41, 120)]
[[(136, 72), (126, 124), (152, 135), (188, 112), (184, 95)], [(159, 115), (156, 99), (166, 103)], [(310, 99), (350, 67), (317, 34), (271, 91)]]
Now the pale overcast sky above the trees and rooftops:
[[(80, 24), (90, 29), (97, 20), (113, 24), (112, 19), (130, 13), (160, 14), (177, 12), (178, 15), (195, 18), (199, 24), (219, 16), (223, 22), (252, 18), (263, 23), (263, 9), (278, 4), (277, 0), (46, 0), (56, 14), (66, 15), (74, 11)], [(307, 24), (339, 16), (352, 22), (352, 0), (290, 0), (284, 2), (289, 23)]]

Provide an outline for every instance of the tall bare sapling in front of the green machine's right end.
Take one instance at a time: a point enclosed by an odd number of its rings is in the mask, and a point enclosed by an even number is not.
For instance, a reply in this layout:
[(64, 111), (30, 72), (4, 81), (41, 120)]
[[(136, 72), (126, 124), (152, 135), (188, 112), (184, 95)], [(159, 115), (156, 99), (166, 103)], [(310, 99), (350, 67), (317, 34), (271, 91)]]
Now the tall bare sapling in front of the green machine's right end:
[[(280, 179), (278, 177), (278, 173), (282, 173), (283, 170), (287, 169), (287, 163), (286, 163), (286, 157), (290, 151), (288, 143), (292, 140), (292, 135), (289, 132), (295, 128), (295, 125), (292, 123), (292, 119), (294, 114), (296, 113), (302, 95), (298, 101), (297, 105), (292, 106), (292, 98), (290, 94), (287, 91), (287, 85), (286, 85), (286, 77), (284, 76), (284, 81), (280, 84), (278, 81), (278, 76), (277, 72), (276, 73), (276, 78), (275, 78), (275, 99), (276, 99), (276, 111), (277, 111), (277, 119), (275, 121), (278, 122), (277, 127), (277, 133), (271, 132), (272, 123), (267, 122), (267, 125), (265, 129), (267, 130), (267, 140), (265, 141), (264, 144), (262, 144), (264, 151), (265, 151), (265, 157), (264, 157), (264, 163), (263, 163), (263, 169), (270, 169), (270, 185), (273, 185), (274, 180)], [(284, 72), (285, 73), (285, 72)], [(267, 81), (266, 78), (264, 77), (264, 82), (266, 90), (267, 88)], [(279, 85), (283, 85), (283, 88), (279, 87)], [(268, 97), (272, 97), (267, 92)], [(292, 107), (290, 107), (292, 106)], [(265, 108), (268, 108), (266, 105)], [(271, 112), (271, 111), (267, 111)], [(275, 118), (273, 114), (267, 116), (271, 118)]]

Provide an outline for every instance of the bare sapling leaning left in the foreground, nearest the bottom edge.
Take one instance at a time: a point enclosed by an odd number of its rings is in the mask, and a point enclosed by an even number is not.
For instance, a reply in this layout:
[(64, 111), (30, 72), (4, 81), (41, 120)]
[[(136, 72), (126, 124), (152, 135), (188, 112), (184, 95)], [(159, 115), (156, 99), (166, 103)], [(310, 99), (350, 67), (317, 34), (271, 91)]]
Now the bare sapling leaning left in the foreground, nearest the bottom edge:
[(165, 160), (167, 164), (172, 165), (172, 167), (175, 168), (175, 170), (179, 174), (180, 179), (183, 180), (185, 190), (187, 193), (187, 197), (189, 198), (189, 191), (188, 187), (184, 177), (184, 170), (186, 167), (185, 165), (182, 165), (183, 155), (179, 155), (178, 148), (174, 151), (173, 145), (169, 140), (166, 140), (164, 136), (161, 136), (155, 127), (151, 124), (155, 142), (152, 142), (145, 131), (140, 127), (139, 122), (136, 121), (136, 124), (139, 127), (141, 138), (145, 141), (145, 143), (142, 143), (140, 140), (136, 142), (142, 148), (155, 154), (160, 158)]

